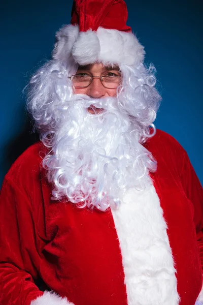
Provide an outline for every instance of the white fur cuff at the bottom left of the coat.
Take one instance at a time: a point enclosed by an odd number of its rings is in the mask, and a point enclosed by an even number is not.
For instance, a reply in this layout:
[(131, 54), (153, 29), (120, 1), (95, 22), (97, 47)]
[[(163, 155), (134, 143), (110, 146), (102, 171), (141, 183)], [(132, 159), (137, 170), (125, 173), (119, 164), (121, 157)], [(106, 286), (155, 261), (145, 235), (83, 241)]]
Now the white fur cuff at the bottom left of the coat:
[(42, 296), (31, 301), (30, 305), (74, 305), (66, 297), (60, 297), (54, 292), (45, 291)]

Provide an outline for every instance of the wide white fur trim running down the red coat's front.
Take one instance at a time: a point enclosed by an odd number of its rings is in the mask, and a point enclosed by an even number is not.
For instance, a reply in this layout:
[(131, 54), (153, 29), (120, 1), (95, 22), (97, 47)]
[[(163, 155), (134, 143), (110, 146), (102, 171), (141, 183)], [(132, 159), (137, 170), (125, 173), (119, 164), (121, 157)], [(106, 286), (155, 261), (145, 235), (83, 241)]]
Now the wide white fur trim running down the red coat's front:
[(178, 305), (172, 251), (159, 198), (152, 186), (130, 189), (112, 209), (125, 273), (128, 305)]

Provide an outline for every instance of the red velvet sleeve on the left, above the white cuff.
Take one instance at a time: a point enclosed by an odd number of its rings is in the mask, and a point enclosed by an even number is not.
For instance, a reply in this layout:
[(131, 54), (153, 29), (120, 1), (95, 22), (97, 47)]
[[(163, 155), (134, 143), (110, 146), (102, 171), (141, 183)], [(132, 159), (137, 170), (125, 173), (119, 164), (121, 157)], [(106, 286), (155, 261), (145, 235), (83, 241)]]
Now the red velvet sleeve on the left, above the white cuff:
[(27, 194), (5, 178), (0, 195), (0, 304), (29, 305), (41, 296), (34, 281), (40, 257)]

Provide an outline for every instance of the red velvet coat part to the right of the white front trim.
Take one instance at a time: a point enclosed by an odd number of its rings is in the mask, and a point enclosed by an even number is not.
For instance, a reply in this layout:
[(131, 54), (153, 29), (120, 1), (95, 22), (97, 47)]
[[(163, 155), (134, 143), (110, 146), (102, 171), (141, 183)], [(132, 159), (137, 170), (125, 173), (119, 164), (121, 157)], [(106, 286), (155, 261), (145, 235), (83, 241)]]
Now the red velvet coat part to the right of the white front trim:
[(158, 131), (152, 142), (146, 146), (158, 168), (151, 176), (168, 227), (180, 305), (194, 305), (202, 287), (203, 190), (186, 151), (174, 138)]

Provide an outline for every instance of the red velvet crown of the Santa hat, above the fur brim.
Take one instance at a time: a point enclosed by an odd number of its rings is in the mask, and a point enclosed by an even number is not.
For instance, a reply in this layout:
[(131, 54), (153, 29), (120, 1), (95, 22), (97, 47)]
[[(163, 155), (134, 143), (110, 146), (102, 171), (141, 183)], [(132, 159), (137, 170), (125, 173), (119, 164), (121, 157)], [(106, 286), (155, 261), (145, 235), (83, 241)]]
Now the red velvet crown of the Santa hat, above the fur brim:
[(123, 0), (74, 0), (71, 24), (79, 24), (80, 32), (97, 31), (99, 26), (131, 32), (127, 16)]

